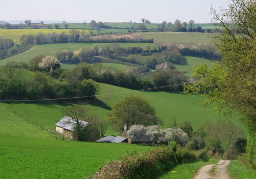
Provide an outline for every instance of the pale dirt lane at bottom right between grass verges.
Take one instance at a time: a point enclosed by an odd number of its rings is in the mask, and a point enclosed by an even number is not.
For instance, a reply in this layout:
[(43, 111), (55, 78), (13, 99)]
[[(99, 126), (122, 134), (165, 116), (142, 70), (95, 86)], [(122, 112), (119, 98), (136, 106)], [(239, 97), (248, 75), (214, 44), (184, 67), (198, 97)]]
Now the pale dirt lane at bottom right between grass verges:
[(193, 179), (230, 179), (227, 166), (230, 160), (220, 160), (216, 165), (206, 165), (200, 168)]

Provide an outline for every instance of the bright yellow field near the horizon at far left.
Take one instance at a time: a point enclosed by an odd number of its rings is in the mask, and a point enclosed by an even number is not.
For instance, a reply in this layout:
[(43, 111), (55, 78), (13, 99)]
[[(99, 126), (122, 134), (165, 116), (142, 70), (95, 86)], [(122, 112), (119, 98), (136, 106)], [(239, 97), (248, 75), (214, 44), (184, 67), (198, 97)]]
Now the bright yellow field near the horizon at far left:
[(10, 38), (19, 43), (21, 35), (37, 35), (38, 33), (68, 33), (70, 29), (2, 29), (0, 28), (0, 38)]

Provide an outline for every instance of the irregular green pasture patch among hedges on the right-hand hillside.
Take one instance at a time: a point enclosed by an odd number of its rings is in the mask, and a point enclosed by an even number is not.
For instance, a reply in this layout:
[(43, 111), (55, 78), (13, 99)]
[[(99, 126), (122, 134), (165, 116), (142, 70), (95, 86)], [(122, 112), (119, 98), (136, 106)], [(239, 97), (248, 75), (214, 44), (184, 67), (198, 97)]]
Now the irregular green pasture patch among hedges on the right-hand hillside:
[(183, 71), (186, 73), (186, 76), (191, 76), (192, 72), (193, 72), (193, 67), (195, 67), (195, 65), (197, 63), (205, 63), (207, 64), (209, 67), (213, 65), (214, 61), (208, 60), (208, 59), (203, 59), (203, 58), (198, 58), (198, 57), (186, 57), (187, 59), (187, 65), (175, 65), (177, 67), (178, 70)]

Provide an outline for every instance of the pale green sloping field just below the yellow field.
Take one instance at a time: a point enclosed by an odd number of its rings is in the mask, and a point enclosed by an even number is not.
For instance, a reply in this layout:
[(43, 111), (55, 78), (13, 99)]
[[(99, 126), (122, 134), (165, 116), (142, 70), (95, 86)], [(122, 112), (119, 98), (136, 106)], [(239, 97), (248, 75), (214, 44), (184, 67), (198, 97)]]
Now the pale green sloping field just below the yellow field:
[[(97, 43), (98, 46), (104, 46), (110, 43)], [(152, 43), (119, 43), (122, 48), (127, 48), (129, 46), (152, 46), (155, 47), (155, 44)], [(7, 61), (22, 61), (22, 62), (29, 62), (32, 58), (37, 55), (47, 55), (47, 56), (54, 56), (56, 52), (61, 50), (79, 50), (84, 48), (89, 50), (91, 46), (94, 44), (88, 43), (65, 43), (65, 44), (44, 44), (44, 45), (35, 45), (29, 50), (19, 53), (17, 55), (8, 57), (6, 59), (0, 60), (0, 66), (6, 64)]]

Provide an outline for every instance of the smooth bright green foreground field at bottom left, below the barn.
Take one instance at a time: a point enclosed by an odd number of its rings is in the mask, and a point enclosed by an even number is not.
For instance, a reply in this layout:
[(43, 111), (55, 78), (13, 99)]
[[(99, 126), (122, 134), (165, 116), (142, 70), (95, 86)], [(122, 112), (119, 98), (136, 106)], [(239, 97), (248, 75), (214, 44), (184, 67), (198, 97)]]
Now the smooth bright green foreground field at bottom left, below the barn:
[(0, 135), (1, 179), (83, 179), (127, 151), (152, 148)]

